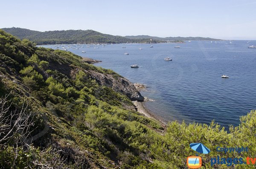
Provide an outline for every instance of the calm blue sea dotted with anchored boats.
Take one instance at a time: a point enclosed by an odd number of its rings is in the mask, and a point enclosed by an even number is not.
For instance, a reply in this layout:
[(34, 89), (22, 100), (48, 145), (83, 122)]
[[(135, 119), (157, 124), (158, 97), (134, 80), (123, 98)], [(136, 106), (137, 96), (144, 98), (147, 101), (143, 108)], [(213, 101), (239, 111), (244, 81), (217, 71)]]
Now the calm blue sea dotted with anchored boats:
[[(153, 48), (150, 44), (126, 44), (125, 49), (122, 44), (77, 45), (79, 49), (72, 46), (68, 51), (102, 60), (95, 65), (113, 69), (133, 83), (147, 84), (147, 91), (141, 93), (152, 101), (145, 105), (165, 121), (210, 123), (215, 119), (228, 127), (238, 125), (239, 116), (256, 109), (256, 49), (247, 48), (256, 41), (192, 41), (179, 45), (181, 49), (175, 49), (177, 44), (172, 43), (153, 44)], [(163, 60), (167, 56), (173, 60)], [(131, 69), (133, 64), (140, 68)], [(222, 74), (230, 78), (221, 78)]]

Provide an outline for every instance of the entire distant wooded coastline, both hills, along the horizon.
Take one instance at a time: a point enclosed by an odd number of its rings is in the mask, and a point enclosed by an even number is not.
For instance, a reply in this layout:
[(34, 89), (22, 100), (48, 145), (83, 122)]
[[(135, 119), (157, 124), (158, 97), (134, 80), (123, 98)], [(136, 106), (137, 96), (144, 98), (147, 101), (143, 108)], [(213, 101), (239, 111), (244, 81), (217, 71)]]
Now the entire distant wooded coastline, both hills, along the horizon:
[(220, 40), (209, 37), (152, 37), (114, 36), (103, 34), (94, 30), (61, 30), (61, 31), (33, 31), (23, 28), (2, 28), (9, 34), (20, 39), (28, 39), (37, 45), (68, 44), (68, 43), (183, 43), (183, 40)]

